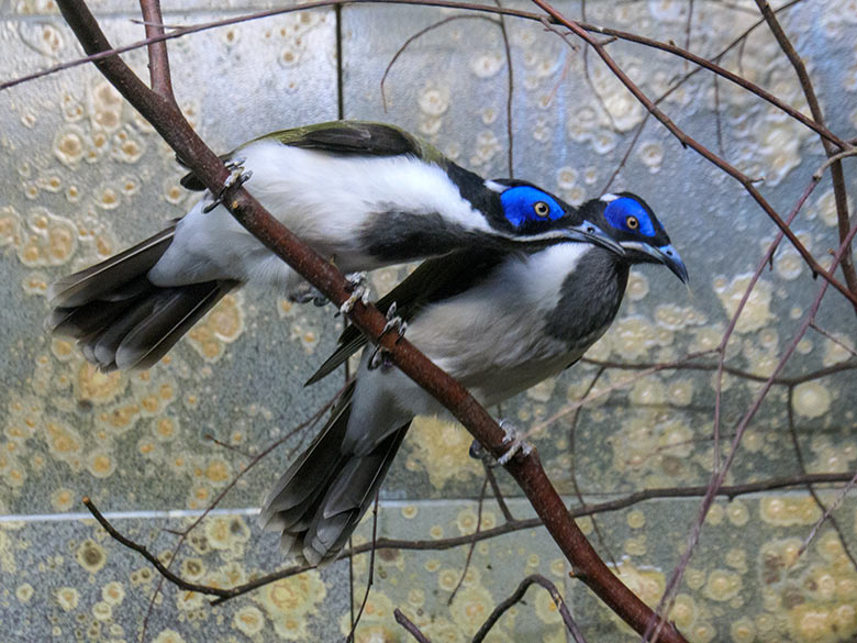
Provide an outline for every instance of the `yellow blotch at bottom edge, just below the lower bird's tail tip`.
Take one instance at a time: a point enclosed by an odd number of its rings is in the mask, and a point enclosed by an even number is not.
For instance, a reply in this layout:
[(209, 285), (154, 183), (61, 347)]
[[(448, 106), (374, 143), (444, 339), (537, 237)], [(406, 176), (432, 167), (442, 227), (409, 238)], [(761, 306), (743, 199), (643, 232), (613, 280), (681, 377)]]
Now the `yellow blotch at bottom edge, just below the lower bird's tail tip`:
[(307, 641), (307, 618), (318, 612), (327, 590), (319, 572), (310, 569), (265, 586), (255, 598), (274, 623), (274, 631), (287, 641)]

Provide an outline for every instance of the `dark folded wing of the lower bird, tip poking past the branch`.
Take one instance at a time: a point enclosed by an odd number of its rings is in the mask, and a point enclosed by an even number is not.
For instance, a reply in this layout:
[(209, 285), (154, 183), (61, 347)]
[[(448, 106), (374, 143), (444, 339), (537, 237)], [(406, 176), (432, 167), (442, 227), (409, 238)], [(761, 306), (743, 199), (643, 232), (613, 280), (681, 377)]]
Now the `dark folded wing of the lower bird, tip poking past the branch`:
[[(422, 307), (454, 297), (474, 286), (485, 278), (504, 256), (496, 251), (469, 251), (429, 259), (420, 264), (401, 284), (376, 301), (375, 307), (386, 314), (390, 306), (396, 302), (396, 314), (403, 321), (409, 321)], [(307, 380), (304, 386), (315, 384), (336, 370), (367, 343), (366, 335), (357, 330), (357, 326), (346, 328), (340, 335), (336, 351)]]

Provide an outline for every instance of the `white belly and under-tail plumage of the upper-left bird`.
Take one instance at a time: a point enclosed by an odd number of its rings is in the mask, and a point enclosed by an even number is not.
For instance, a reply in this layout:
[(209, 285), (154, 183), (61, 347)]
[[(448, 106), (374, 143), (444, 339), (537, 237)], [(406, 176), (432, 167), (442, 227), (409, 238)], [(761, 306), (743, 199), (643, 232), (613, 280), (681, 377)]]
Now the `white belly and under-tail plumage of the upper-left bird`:
[[(461, 198), (437, 165), (413, 156), (332, 156), (261, 140), (233, 154), (252, 178), (245, 188), (283, 225), (345, 271), (380, 262), (365, 253), (360, 232), (388, 211), (443, 212), (464, 229), (489, 232), (485, 217)], [(292, 289), (300, 278), (223, 207), (200, 201), (176, 226), (167, 252), (149, 271), (156, 286), (232, 279)]]

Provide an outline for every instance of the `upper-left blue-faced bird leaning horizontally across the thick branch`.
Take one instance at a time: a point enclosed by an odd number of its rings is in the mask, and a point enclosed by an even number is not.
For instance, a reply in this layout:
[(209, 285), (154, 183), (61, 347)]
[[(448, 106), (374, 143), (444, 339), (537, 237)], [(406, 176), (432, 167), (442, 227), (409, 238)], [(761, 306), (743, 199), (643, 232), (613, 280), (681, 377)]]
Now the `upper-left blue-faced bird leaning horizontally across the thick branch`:
[[(620, 246), (559, 198), (524, 181), (486, 180), (392, 125), (332, 122), (268, 134), (226, 155), (279, 221), (344, 273), (459, 250)], [(204, 187), (192, 174), (189, 189)], [(147, 368), (245, 284), (301, 299), (308, 285), (210, 192), (174, 225), (52, 285), (46, 326), (109, 370)]]

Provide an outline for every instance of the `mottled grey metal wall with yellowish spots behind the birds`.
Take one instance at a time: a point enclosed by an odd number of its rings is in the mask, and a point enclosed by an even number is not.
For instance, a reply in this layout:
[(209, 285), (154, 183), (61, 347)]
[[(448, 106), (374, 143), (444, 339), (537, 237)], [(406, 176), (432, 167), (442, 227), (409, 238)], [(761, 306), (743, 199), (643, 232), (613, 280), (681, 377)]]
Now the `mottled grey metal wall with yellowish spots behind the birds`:
[[(166, 4), (170, 24), (191, 24), (260, 8), (231, 3), (212, 11)], [(131, 2), (92, 3), (114, 43), (143, 37)], [(522, 3), (521, 7), (532, 9)], [(578, 3), (559, 7), (578, 18)], [(534, 9), (532, 9), (534, 10)], [(723, 51), (758, 20), (753, 2), (588, 3), (588, 20), (661, 41), (690, 43), (705, 57)], [(513, 174), (570, 202), (601, 193), (625, 155), (645, 110), (593, 53), (570, 48), (541, 24), (508, 20), (514, 87), (509, 167), (508, 71), (502, 34), (482, 19), (456, 20), (411, 44), (444, 10), (349, 7), (341, 15), (342, 106), (346, 118), (389, 121), (418, 133), (485, 176)], [(781, 19), (810, 73), (831, 129), (857, 135), (857, 8), (801, 2)], [(574, 42), (574, 41), (572, 41)], [(579, 43), (578, 43), (579, 44)], [(191, 122), (218, 151), (265, 132), (335, 119), (337, 29), (333, 11), (266, 19), (172, 41), (176, 93)], [(609, 51), (648, 96), (660, 97), (692, 69), (666, 54), (622, 42)], [(0, 2), (2, 79), (79, 55), (51, 0)], [(141, 74), (145, 55), (125, 59)], [(583, 73), (585, 63), (588, 74)], [(723, 64), (809, 113), (791, 66), (763, 26)], [(661, 107), (688, 133), (754, 178), (788, 212), (823, 162), (817, 136), (744, 89), (702, 73)], [(669, 230), (690, 275), (688, 292), (666, 270), (634, 270), (620, 319), (588, 357), (511, 400), (500, 411), (533, 430), (555, 484), (572, 502), (574, 479), (590, 502), (644, 488), (704, 485), (715, 375), (711, 369), (633, 370), (716, 347), (776, 229), (733, 179), (682, 149), (653, 119), (611, 189), (646, 198)], [(89, 496), (123, 532), (166, 556), (190, 523), (181, 511), (208, 507), (248, 463), (333, 396), (342, 379), (303, 389), (333, 347), (341, 322), (331, 308), (290, 306), (282, 293), (245, 290), (224, 301), (155, 368), (101, 374), (75, 346), (42, 331), (47, 285), (107, 257), (187, 211), (193, 195), (178, 185), (172, 153), (89, 67), (0, 92), (0, 642), (132, 641), (146, 620), (156, 573), (91, 520)], [(846, 181), (857, 193), (854, 162)], [(820, 259), (838, 245), (830, 178), (794, 225)], [(826, 260), (826, 259), (825, 259)], [(405, 269), (378, 273), (377, 291)], [(783, 245), (739, 319), (727, 350), (734, 372), (723, 383), (724, 440), (773, 372), (812, 304), (814, 281)], [(857, 467), (854, 311), (831, 291), (817, 325), (797, 345), (783, 376), (744, 436), (727, 484)], [(715, 364), (709, 356), (695, 364)], [(828, 375), (817, 376), (821, 369)], [(572, 404), (597, 378), (577, 418)], [(794, 430), (801, 457), (792, 444)], [(218, 442), (214, 442), (215, 439)], [(253, 519), (264, 490), (293, 448), (286, 444), (242, 477), (179, 554), (186, 578), (220, 587), (282, 565), (276, 539)], [(478, 522), (481, 466), (467, 456), (466, 432), (421, 420), (385, 487), (378, 529), (397, 539), (470, 534)], [(727, 450), (727, 447), (724, 447)], [(574, 452), (574, 466), (571, 452)], [(501, 486), (519, 492), (508, 478)], [(574, 477), (572, 477), (574, 476)], [(821, 492), (830, 505), (834, 491)], [(572, 502), (574, 503), (574, 502)], [(510, 500), (516, 518), (525, 500)], [(597, 518), (599, 551), (649, 603), (683, 550), (699, 499), (660, 499)], [(169, 511), (178, 513), (169, 514)], [(799, 554), (822, 515), (805, 490), (775, 491), (717, 503), (680, 586), (671, 619), (690, 641), (852, 641), (857, 635), (857, 503), (846, 500)], [(501, 524), (486, 502), (481, 529)], [(591, 519), (582, 521), (594, 537)], [(371, 524), (356, 542), (366, 542)], [(844, 543), (844, 544), (843, 544)], [(467, 547), (383, 552), (376, 562), (360, 641), (405, 641), (392, 620), (402, 609), (432, 641), (469, 640), (494, 603), (527, 574), (554, 579), (589, 641), (635, 640), (568, 568), (542, 530), (480, 542), (461, 588)], [(212, 608), (199, 594), (166, 587), (147, 620), (146, 641), (333, 641), (359, 605), (368, 556), (282, 580)], [(564, 641), (547, 594), (533, 589), (492, 633), (494, 641)]]

